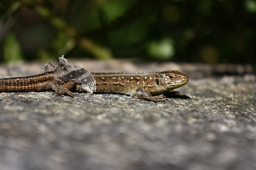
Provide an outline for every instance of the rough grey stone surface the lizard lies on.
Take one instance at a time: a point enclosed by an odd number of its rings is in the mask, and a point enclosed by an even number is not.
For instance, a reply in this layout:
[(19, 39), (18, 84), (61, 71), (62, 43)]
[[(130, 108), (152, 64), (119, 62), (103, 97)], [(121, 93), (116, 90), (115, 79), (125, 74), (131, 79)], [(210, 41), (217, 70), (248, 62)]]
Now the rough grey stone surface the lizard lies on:
[[(179, 70), (190, 79), (167, 103), (118, 94), (0, 93), (1, 170), (256, 169), (252, 66), (69, 62), (99, 72)], [(0, 78), (37, 74), (42, 66), (2, 64)]]

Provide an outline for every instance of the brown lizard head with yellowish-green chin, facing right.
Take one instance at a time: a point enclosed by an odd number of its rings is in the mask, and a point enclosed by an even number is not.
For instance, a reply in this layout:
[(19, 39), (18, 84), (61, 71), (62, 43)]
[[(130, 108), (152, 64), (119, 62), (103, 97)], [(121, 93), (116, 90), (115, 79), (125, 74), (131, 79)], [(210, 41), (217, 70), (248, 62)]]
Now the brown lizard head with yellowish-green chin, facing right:
[(188, 76), (177, 70), (158, 72), (156, 77), (156, 84), (164, 92), (179, 88), (187, 83)]

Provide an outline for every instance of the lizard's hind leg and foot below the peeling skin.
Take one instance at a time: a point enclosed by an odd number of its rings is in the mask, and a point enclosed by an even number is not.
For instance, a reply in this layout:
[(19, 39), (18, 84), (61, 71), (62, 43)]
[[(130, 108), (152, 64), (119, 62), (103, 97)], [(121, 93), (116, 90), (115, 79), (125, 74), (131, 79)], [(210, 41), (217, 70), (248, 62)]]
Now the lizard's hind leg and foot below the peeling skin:
[(74, 97), (76, 93), (71, 92), (70, 89), (74, 87), (75, 83), (76, 82), (74, 80), (65, 81), (59, 78), (55, 78), (52, 81), (52, 89), (55, 90), (55, 92), (52, 93), (52, 95), (54, 95), (55, 97), (62, 96), (62, 95), (68, 95), (68, 96)]

